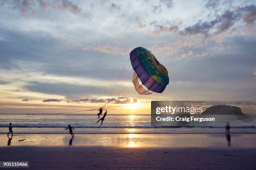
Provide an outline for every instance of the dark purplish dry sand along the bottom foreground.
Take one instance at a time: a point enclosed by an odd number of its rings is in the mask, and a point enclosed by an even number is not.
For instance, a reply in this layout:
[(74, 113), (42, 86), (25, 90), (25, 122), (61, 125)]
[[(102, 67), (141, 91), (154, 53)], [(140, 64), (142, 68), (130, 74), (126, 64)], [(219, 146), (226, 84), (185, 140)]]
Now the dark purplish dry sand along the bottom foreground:
[[(32, 170), (253, 170), (255, 148), (4, 147), (0, 159), (29, 161)], [(6, 168), (12, 169), (12, 168)], [(15, 168), (14, 168), (15, 169)], [(27, 168), (25, 168), (27, 169)]]

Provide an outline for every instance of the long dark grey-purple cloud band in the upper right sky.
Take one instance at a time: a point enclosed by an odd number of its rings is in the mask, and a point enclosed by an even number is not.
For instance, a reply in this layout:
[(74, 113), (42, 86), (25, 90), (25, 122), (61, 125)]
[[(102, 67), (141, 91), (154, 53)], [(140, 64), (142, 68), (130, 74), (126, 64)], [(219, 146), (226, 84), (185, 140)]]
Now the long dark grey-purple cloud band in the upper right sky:
[(185, 27), (179, 30), (179, 25), (172, 24), (167, 21), (165, 24), (159, 24), (156, 21), (149, 23), (154, 27), (154, 33), (173, 32), (179, 35), (196, 35), (202, 34), (205, 37), (209, 35), (217, 35), (227, 31), (243, 16), (243, 21), (251, 24), (256, 20), (256, 6), (249, 5), (245, 7), (238, 7), (235, 10), (226, 10), (222, 15), (218, 15), (214, 20), (202, 22), (197, 21), (194, 25)]

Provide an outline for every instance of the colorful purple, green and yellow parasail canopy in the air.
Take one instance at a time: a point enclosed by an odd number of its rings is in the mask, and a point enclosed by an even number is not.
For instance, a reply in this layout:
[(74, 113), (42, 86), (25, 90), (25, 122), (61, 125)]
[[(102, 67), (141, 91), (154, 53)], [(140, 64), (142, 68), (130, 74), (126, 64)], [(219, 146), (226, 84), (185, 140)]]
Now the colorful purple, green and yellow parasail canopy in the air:
[[(156, 60), (151, 51), (137, 47), (131, 51), (130, 60), (134, 70), (132, 82), (139, 94), (148, 95), (152, 92), (161, 93), (164, 91), (166, 85), (169, 84), (168, 71)], [(148, 89), (144, 89), (143, 85)]]

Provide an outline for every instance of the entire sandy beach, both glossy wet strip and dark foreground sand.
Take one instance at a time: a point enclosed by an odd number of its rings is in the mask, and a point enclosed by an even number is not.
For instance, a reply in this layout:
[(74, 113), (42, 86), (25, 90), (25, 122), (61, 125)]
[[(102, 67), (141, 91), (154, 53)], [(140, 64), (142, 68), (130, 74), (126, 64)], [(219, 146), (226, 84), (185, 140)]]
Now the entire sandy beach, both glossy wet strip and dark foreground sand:
[(29, 161), (33, 170), (254, 169), (256, 135), (230, 138), (229, 143), (225, 134), (30, 134), (9, 141), (0, 135), (0, 160)]

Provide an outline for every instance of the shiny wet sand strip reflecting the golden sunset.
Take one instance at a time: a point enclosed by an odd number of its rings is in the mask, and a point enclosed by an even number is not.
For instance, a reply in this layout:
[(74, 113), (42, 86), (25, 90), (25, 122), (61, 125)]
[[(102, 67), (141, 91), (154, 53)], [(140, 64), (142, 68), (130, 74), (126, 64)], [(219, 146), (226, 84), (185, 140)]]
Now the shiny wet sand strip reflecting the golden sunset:
[[(9, 138), (11, 136), (9, 135)], [(256, 147), (256, 134), (18, 134), (0, 135), (3, 146)], [(26, 140), (24, 140), (26, 139)], [(23, 140), (20, 141), (19, 140)]]

